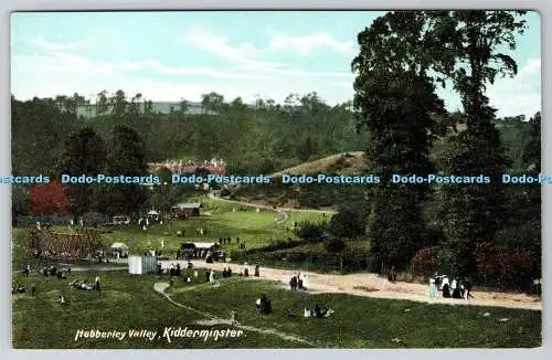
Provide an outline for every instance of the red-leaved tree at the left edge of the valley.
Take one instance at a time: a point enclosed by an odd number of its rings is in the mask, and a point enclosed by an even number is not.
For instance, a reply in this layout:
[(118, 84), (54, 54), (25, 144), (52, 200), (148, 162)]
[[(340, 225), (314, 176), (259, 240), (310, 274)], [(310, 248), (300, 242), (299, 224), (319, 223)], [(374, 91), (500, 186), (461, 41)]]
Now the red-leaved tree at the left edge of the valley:
[(67, 215), (71, 213), (67, 188), (57, 180), (46, 184), (32, 186), (29, 198), (32, 215)]

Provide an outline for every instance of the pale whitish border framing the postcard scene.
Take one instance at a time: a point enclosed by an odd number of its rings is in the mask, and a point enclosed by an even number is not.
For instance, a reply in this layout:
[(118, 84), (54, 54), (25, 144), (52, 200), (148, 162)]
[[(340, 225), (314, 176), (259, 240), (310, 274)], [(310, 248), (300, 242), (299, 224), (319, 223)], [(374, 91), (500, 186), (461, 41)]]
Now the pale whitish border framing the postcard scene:
[[(546, 0), (464, 0), (464, 1), (439, 1), (439, 0), (1, 0), (0, 1), (0, 43), (1, 43), (1, 66), (0, 66), (0, 174), (7, 176), (11, 172), (11, 120), (10, 120), (10, 12), (11, 11), (85, 11), (85, 10), (230, 10), (230, 9), (254, 9), (254, 10), (391, 10), (391, 9), (528, 9), (538, 10), (541, 13), (542, 25), (542, 115), (546, 119), (548, 114), (552, 114), (552, 96), (550, 84), (552, 84), (552, 73), (548, 64), (552, 63), (552, 47), (544, 46), (552, 43), (552, 2)], [(545, 139), (552, 136), (552, 124), (542, 123), (542, 161), (543, 172), (552, 172), (552, 146)], [(169, 359), (221, 359), (234, 360), (255, 357), (257, 359), (289, 359), (293, 358), (317, 358), (318, 360), (340, 359), (423, 359), (423, 360), (465, 360), (471, 357), (485, 357), (485, 359), (509, 360), (531, 357), (532, 359), (544, 359), (545, 352), (551, 343), (550, 311), (548, 310), (551, 290), (548, 288), (548, 275), (551, 274), (552, 265), (549, 262), (552, 252), (552, 188), (543, 188), (542, 207), (542, 231), (543, 231), (543, 347), (539, 349), (520, 350), (486, 350), (486, 349), (427, 349), (427, 350), (160, 350), (162, 356)], [(41, 360), (73, 360), (79, 359), (120, 359), (130, 358), (135, 360), (151, 359), (159, 350), (49, 350), (38, 353), (35, 350), (13, 350), (11, 345), (11, 251), (10, 251), (10, 229), (11, 229), (11, 201), (10, 188), (0, 187), (0, 204), (2, 205), (2, 216), (0, 216), (0, 266), (1, 285), (0, 289), (0, 336), (1, 354), (9, 358), (24, 359), (28, 357), (40, 357)], [(415, 329), (412, 329), (415, 331)], [(453, 329), (450, 329), (453, 331)], [(447, 333), (443, 333), (446, 338)], [(550, 358), (550, 354), (549, 357)]]

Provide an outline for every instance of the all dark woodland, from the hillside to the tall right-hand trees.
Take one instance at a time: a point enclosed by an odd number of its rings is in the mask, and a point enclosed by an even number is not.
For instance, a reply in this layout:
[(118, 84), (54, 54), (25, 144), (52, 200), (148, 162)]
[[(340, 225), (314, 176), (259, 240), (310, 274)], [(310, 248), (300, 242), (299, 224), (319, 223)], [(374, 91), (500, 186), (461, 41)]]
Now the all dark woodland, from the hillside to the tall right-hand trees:
[[(118, 91), (113, 96), (99, 92), (95, 104), (84, 104), (94, 106), (96, 115), (84, 117), (77, 114), (85, 102), (78, 94), (25, 102), (12, 97), (13, 174), (141, 176), (150, 161), (212, 157), (223, 158), (231, 173), (258, 174), (364, 150), (367, 173), (379, 173), (383, 181), (341, 209), (348, 215), (336, 218), (332, 233), (365, 236), (372, 269), (448, 268), (479, 280), (527, 283), (540, 275), (540, 187), (386, 184), (391, 173), (540, 171), (540, 113), (529, 121), (523, 116), (500, 119), (486, 96), (497, 76), (517, 73), (516, 62), (499, 50), (514, 49), (516, 34), (526, 28), (523, 17), (510, 11), (389, 12), (359, 33), (360, 51), (351, 64), (354, 98), (336, 106), (317, 93), (248, 106), (212, 92), (202, 96), (201, 114), (188, 114), (183, 99), (160, 114), (141, 94)], [(461, 98), (459, 112), (448, 113), (436, 95), (436, 86), (447, 84)], [(70, 187), (70, 211), (167, 208), (180, 200), (182, 189)], [(12, 213), (29, 213), (29, 189), (13, 187), (12, 193)], [(358, 222), (365, 229), (362, 234)], [(328, 251), (340, 246), (332, 242)]]

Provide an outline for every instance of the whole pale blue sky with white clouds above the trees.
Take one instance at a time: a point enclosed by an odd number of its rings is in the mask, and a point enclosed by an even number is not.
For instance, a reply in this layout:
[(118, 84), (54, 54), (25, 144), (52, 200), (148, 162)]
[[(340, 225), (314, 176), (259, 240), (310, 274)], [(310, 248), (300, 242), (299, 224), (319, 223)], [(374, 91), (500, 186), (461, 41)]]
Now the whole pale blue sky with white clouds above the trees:
[[(329, 105), (352, 99), (351, 61), (357, 34), (376, 11), (264, 12), (47, 12), (11, 15), (11, 89), (19, 99), (103, 89), (145, 98), (226, 100), (317, 92)], [(514, 78), (500, 78), (487, 96), (498, 116), (541, 109), (541, 23), (528, 29), (509, 54)], [(449, 110), (460, 109), (452, 89), (439, 89)]]

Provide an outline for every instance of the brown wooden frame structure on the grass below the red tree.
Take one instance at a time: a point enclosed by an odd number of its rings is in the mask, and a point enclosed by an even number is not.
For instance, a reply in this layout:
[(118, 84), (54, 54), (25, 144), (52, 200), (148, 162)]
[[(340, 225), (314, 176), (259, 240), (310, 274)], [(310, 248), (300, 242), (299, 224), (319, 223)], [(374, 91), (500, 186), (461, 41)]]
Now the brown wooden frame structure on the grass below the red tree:
[(26, 233), (31, 256), (40, 260), (78, 260), (104, 255), (104, 246), (96, 229), (82, 229), (75, 233), (60, 233), (32, 227)]

